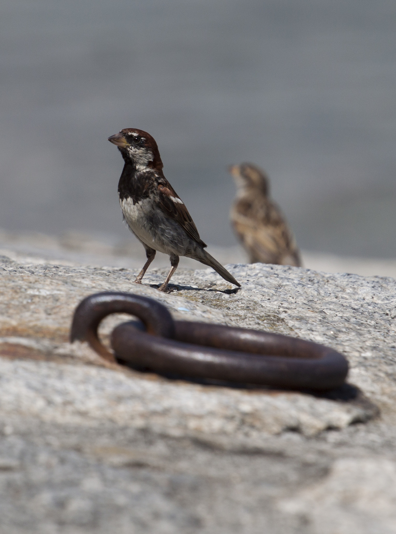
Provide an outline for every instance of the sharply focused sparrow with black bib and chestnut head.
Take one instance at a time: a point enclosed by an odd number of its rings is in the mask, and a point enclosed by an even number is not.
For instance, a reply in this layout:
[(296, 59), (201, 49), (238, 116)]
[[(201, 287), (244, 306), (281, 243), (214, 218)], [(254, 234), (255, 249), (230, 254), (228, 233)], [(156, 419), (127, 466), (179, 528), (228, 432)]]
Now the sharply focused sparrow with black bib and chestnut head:
[(124, 219), (146, 249), (147, 262), (135, 284), (142, 283), (144, 273), (159, 250), (169, 254), (171, 260), (171, 270), (159, 287), (160, 291), (165, 291), (179, 264), (179, 256), (209, 265), (225, 280), (240, 287), (237, 280), (204, 250), (206, 245), (187, 208), (164, 176), (155, 139), (143, 130), (124, 128), (108, 140), (118, 147), (125, 161), (118, 182)]

